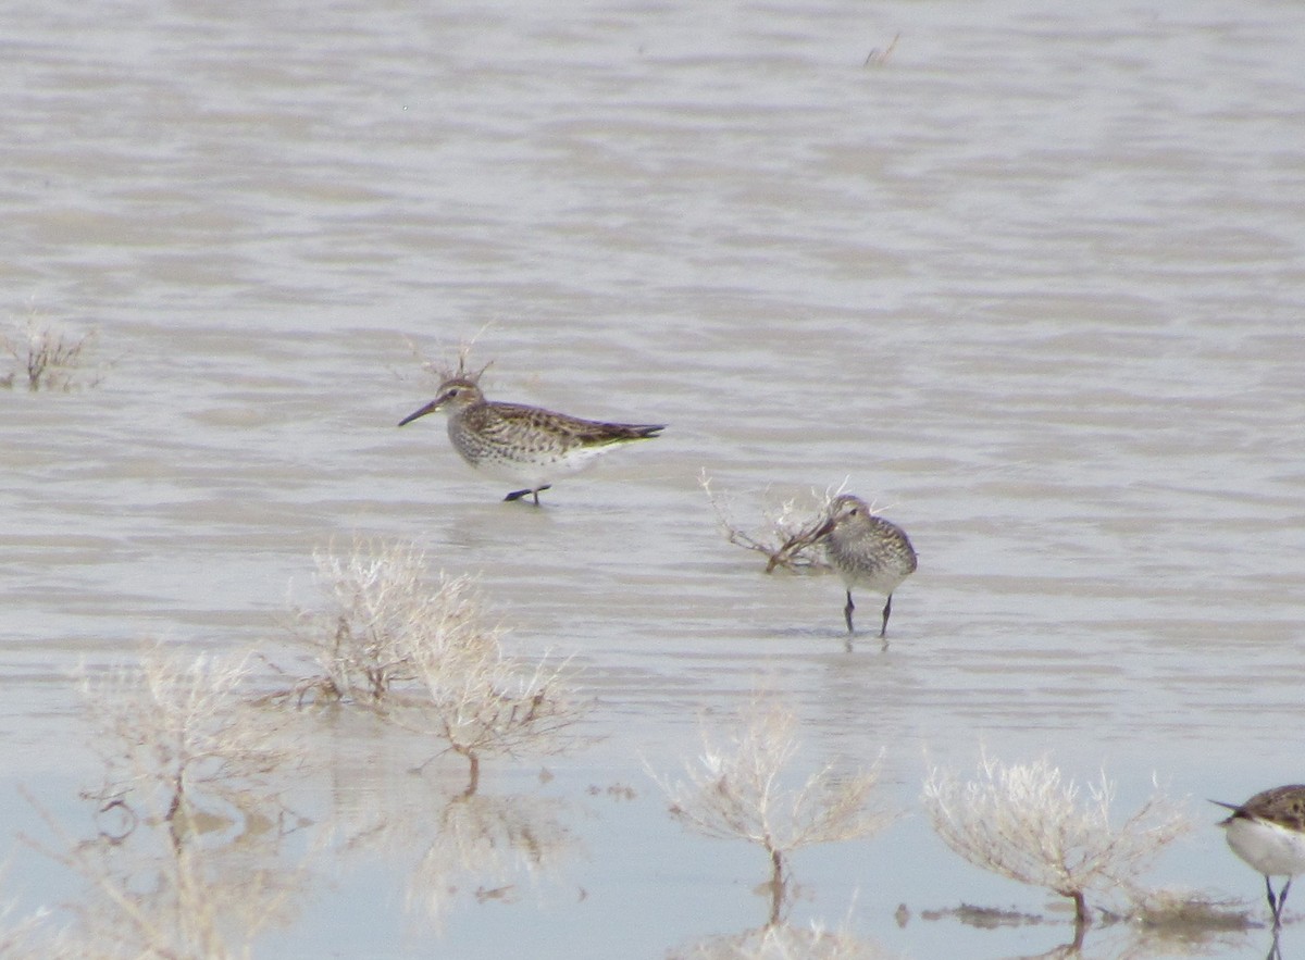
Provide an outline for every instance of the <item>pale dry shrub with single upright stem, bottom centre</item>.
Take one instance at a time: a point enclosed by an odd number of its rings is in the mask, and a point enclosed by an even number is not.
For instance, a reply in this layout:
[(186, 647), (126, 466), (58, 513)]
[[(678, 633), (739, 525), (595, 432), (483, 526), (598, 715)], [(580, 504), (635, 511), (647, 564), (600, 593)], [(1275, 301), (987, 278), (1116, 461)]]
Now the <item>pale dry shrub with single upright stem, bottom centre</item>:
[(745, 706), (737, 728), (719, 741), (703, 732), (703, 753), (685, 766), (688, 779), (656, 779), (671, 815), (705, 836), (741, 839), (770, 857), (770, 922), (780, 918), (788, 875), (784, 860), (813, 844), (870, 836), (893, 815), (870, 805), (878, 764), (838, 773), (827, 764), (796, 789), (783, 773), (799, 751), (797, 717), (763, 697)]

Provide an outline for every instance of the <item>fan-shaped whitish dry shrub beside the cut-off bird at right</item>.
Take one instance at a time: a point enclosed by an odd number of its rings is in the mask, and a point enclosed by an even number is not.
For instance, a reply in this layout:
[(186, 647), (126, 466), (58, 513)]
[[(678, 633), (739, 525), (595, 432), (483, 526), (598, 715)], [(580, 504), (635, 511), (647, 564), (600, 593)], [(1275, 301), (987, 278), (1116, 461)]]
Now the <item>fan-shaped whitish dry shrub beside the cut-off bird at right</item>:
[(1007, 766), (984, 755), (968, 783), (933, 768), (923, 800), (938, 836), (971, 863), (1073, 900), (1079, 934), (1090, 893), (1139, 900), (1137, 878), (1191, 830), (1182, 806), (1159, 788), (1112, 826), (1114, 784), (1103, 773), (1082, 797), (1047, 758)]

